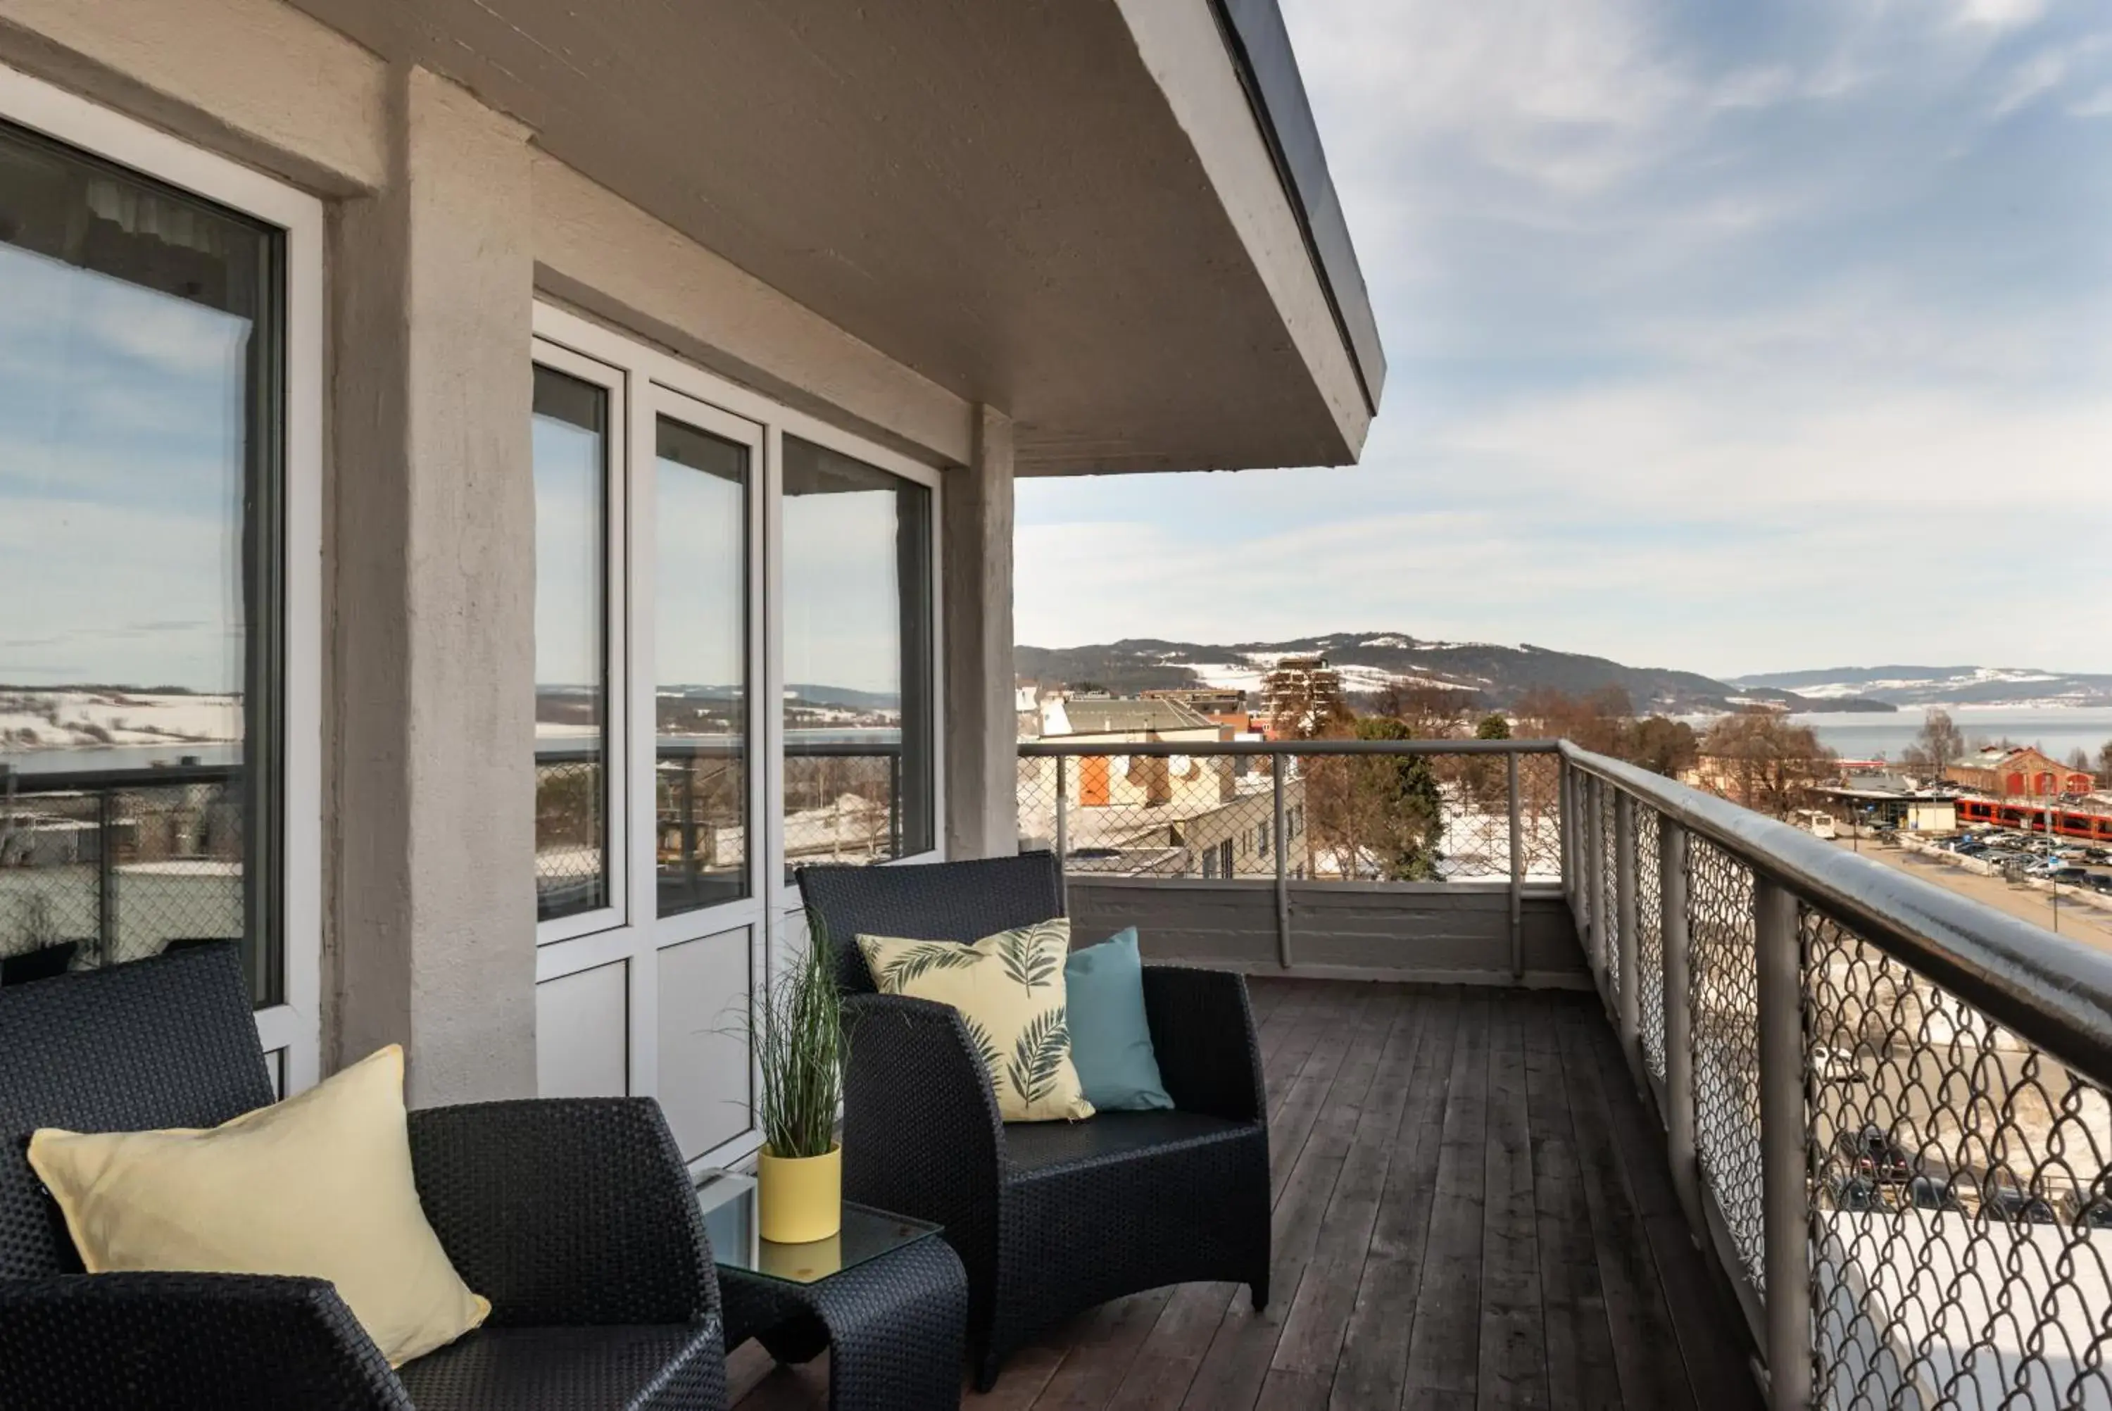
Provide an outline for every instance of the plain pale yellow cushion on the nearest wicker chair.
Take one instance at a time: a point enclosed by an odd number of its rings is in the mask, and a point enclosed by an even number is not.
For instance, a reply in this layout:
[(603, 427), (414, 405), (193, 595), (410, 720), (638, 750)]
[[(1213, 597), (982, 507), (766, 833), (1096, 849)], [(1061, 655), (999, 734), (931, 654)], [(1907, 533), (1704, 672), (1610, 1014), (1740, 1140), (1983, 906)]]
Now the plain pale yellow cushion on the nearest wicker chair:
[(327, 1278), (401, 1367), (484, 1322), (425, 1221), (403, 1122), (403, 1050), (211, 1130), (30, 1136), (89, 1274)]

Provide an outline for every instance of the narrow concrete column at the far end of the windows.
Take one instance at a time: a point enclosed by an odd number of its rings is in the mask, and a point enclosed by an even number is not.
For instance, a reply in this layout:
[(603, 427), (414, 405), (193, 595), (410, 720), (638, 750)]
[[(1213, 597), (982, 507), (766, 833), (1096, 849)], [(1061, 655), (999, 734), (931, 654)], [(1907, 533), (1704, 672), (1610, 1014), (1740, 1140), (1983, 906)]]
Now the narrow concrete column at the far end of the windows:
[(1012, 418), (976, 410), (974, 463), (946, 471), (946, 851), (1018, 851), (1012, 710)]

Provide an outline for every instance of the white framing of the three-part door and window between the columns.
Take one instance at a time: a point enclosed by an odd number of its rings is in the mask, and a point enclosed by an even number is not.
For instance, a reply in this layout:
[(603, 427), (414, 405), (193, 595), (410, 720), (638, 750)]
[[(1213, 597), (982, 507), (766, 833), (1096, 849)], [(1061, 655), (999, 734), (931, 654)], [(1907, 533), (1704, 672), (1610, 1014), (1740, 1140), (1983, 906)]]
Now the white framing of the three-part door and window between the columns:
[[(855, 456), (866, 465), (921, 484), (931, 492), (931, 847), (891, 864), (944, 858), (944, 604), (940, 575), (942, 494), (940, 471), (885, 446), (851, 435), (826, 420), (773, 401), (752, 389), (684, 363), (670, 353), (608, 330), (591, 319), (534, 304), (532, 361), (619, 389), (610, 422), (623, 422), (627, 454), (610, 450), (610, 475), (625, 482), (621, 501), (610, 496), (612, 581), (608, 602), (625, 604), (610, 627), (610, 830), (621, 826), (627, 843), (610, 841), (612, 872), (625, 877), (625, 902), (589, 917), (545, 921), (536, 927), (536, 982), (558, 980), (615, 961), (627, 963), (627, 1081), (634, 1096), (659, 1094), (659, 951), (695, 940), (748, 932), (750, 993), (803, 944), (798, 891), (784, 881), (784, 437), (798, 435), (817, 446)], [(585, 370), (585, 372), (583, 372)], [(697, 427), (750, 448), (748, 467), (748, 896), (676, 917), (659, 917), (657, 820), (650, 788), (657, 756), (655, 695), (659, 689), (653, 653), (655, 553), (653, 509), (657, 501), (657, 418)], [(623, 505), (617, 513), (615, 505)], [(615, 610), (615, 608), (612, 608)], [(621, 735), (621, 744), (619, 744)], [(570, 923), (570, 925), (566, 925)], [(760, 1077), (750, 1060), (750, 1103)], [(691, 1155), (691, 1170), (705, 1172), (750, 1158), (762, 1145), (750, 1105), (748, 1128), (716, 1147)]]

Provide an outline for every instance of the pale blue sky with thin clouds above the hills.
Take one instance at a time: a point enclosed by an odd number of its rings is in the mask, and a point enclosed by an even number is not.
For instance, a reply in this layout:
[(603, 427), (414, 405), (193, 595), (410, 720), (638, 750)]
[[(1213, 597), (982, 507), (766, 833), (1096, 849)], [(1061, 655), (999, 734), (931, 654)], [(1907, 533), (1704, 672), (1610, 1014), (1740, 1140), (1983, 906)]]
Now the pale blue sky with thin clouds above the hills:
[(1018, 640), (2112, 672), (2101, 0), (1282, 0), (1360, 467), (1022, 482)]

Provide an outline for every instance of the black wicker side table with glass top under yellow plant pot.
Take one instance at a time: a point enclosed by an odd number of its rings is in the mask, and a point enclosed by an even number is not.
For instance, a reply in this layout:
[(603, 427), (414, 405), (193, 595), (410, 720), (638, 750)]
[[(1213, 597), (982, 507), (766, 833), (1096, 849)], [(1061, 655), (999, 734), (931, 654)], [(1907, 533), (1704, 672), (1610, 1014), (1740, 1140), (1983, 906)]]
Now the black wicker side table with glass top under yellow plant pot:
[(779, 1362), (828, 1348), (830, 1411), (929, 1411), (961, 1405), (967, 1274), (938, 1225), (853, 1202), (828, 1240), (777, 1244), (756, 1234), (750, 1177), (697, 1191), (718, 1263), (727, 1352), (750, 1337)]

